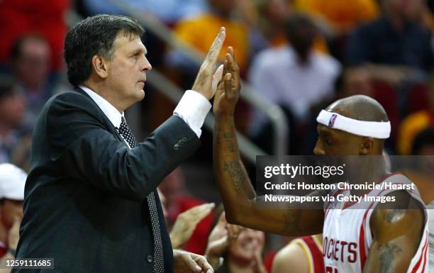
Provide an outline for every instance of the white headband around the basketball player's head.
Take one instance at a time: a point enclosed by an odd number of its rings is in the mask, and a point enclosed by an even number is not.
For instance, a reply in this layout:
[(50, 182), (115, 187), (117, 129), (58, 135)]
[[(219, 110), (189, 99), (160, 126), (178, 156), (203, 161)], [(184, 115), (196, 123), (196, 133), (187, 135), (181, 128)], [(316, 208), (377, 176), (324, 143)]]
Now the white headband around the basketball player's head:
[(359, 121), (353, 118), (347, 118), (338, 113), (333, 113), (321, 110), (316, 118), (318, 123), (321, 123), (328, 128), (345, 130), (345, 132), (354, 135), (362, 135), (371, 138), (386, 139), (390, 136), (389, 121)]

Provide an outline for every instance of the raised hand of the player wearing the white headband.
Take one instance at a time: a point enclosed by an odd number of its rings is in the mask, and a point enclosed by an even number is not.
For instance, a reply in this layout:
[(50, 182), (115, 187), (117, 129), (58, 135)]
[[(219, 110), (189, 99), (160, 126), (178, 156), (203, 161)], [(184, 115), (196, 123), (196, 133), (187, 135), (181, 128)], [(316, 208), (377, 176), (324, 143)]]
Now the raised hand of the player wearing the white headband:
[(240, 97), (240, 69), (235, 61), (233, 48), (228, 47), (223, 63), (223, 79), (218, 84), (213, 111), (216, 116), (233, 116), (235, 105)]

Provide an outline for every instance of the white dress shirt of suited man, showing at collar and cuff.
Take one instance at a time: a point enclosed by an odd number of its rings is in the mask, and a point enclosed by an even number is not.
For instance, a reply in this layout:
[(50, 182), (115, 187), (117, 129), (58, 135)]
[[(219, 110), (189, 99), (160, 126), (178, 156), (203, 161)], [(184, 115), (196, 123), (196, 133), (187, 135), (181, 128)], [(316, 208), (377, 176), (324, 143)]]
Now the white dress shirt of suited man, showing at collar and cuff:
[[(123, 117), (123, 112), (119, 111), (106, 101), (102, 96), (96, 94), (94, 91), (88, 87), (80, 85), (79, 88), (83, 89), (99, 106), (104, 115), (109, 118), (109, 121), (113, 123), (113, 126), (119, 128), (121, 126), (121, 118)], [(211, 104), (209, 101), (193, 90), (187, 90), (179, 101), (177, 107), (174, 109), (173, 114), (179, 116), (182, 120), (187, 123), (191, 130), (196, 133), (197, 137), (201, 137), (201, 127), (204, 125), (205, 117), (208, 111), (211, 109)], [(128, 143), (127, 143), (128, 144)]]

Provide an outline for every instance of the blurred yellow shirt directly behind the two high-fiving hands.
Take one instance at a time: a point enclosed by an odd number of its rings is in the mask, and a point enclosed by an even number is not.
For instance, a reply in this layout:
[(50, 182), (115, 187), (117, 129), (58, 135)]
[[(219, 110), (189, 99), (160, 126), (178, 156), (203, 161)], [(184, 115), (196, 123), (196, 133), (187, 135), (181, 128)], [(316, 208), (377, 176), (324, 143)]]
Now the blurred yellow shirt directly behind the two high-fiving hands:
[(222, 26), (226, 28), (226, 39), (220, 52), (220, 60), (224, 60), (226, 49), (230, 45), (233, 47), (238, 67), (240, 67), (240, 70), (245, 69), (249, 39), (247, 28), (242, 23), (226, 18), (218, 18), (213, 14), (204, 14), (196, 18), (179, 21), (174, 28), (174, 32), (180, 39), (206, 53)]

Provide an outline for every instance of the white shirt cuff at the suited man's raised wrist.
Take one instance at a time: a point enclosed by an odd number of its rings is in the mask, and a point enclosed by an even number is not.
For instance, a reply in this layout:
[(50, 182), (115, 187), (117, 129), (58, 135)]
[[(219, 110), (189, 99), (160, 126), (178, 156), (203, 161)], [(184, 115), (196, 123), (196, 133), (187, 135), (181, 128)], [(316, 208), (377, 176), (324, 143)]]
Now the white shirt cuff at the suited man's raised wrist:
[(174, 109), (173, 114), (182, 118), (200, 138), (202, 134), (201, 127), (204, 125), (206, 115), (210, 109), (211, 104), (204, 96), (196, 91), (187, 90), (179, 101), (177, 108)]

